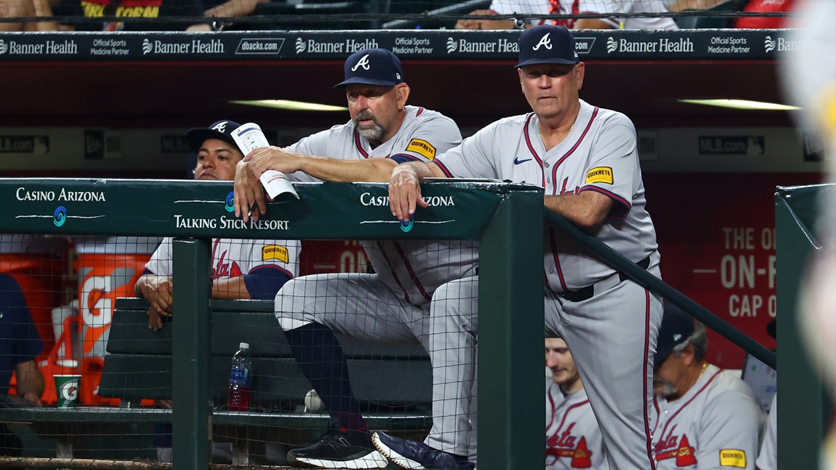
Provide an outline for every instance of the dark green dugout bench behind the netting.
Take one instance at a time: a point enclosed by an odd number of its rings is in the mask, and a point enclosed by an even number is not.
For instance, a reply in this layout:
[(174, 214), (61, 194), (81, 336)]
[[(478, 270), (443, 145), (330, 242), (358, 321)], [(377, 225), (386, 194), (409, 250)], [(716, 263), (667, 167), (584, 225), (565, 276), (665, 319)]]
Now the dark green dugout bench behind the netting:
[[(67, 458), (88, 437), (150, 434), (154, 423), (171, 422), (171, 410), (140, 405), (170, 399), (172, 383), (179, 379), (172, 373), (173, 328), (166, 323), (160, 331), (149, 330), (147, 308), (145, 299), (116, 300), (98, 393), (120, 398), (120, 406), (0, 409), (0, 421), (30, 423), (38, 436), (57, 440), (56, 457)], [(305, 444), (328, 427), (327, 413), (304, 409), (304, 396), (313, 387), (293, 360), (272, 300), (212, 300), (211, 312), (210, 431), (215, 442), (232, 442), (233, 463), (250, 462), (257, 442)], [(338, 338), (370, 428), (413, 435), (429, 431), (432, 373), (423, 347)], [(227, 411), (231, 359), (242, 341), (250, 344), (253, 364), (250, 411)]]

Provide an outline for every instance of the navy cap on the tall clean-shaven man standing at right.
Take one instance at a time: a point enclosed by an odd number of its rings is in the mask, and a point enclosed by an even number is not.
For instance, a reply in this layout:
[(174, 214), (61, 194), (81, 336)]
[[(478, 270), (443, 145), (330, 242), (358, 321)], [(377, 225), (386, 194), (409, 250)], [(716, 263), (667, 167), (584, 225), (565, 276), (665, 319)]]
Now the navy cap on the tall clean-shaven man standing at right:
[(574, 36), (563, 26), (542, 24), (526, 29), (519, 38), (519, 69), (533, 64), (578, 64)]

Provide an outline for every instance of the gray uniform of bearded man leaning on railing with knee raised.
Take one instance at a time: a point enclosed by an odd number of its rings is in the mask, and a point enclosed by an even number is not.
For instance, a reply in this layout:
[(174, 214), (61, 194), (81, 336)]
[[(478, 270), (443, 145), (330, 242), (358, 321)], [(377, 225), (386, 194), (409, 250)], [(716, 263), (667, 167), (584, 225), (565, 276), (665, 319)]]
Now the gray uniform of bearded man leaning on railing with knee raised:
[[(390, 140), (371, 148), (354, 131), (354, 124), (335, 125), (299, 140), (288, 150), (343, 160), (392, 158), (396, 161), (430, 161), (461, 142), (456, 123), (435, 111), (406, 106), (406, 117)], [(295, 181), (318, 181), (301, 172)], [(478, 245), (461, 241), (366, 241), (363, 243), (375, 274), (316, 274), (293, 279), (276, 297), (276, 318), (284, 330), (317, 322), (344, 335), (375, 342), (415, 341), (429, 351), (446, 349), (445, 330), (431, 334), (430, 319), (447, 317), (446, 309), (459, 309), (461, 302), (476, 303), (460, 292), (457, 279), (476, 275)], [(449, 297), (449, 299), (448, 299)], [(432, 300), (432, 301), (431, 301)], [(467, 362), (467, 367), (473, 361)], [(435, 365), (435, 364), (434, 364)], [(436, 377), (433, 396), (443, 393), (450, 379)], [(470, 383), (470, 382), (468, 382)], [(471, 392), (468, 391), (468, 395)], [(456, 416), (433, 406), (434, 427), (451, 428), (445, 422), (476, 422), (472, 416)], [(472, 433), (475, 441), (475, 433)], [(474, 455), (475, 445), (448, 440), (431, 433), (433, 447), (460, 455)]]

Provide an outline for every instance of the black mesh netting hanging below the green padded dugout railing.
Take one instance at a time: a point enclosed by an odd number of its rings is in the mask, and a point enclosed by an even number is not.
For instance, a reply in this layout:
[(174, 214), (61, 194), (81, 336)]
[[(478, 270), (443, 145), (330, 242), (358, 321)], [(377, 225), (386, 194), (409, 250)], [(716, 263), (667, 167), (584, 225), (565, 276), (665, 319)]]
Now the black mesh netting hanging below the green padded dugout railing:
[[(346, 413), (370, 431), (425, 439), (426, 350), (455, 354), (443, 348), (453, 333), (433, 319), (477, 302), (473, 243), (212, 239), (211, 247), (212, 462), (285, 465), (288, 451), (317, 442)], [(0, 456), (47, 467), (176, 459), (171, 396), (183, 379), (173, 372), (173, 263), (171, 238), (0, 238), (0, 352), (4, 372), (15, 372), (8, 396), (2, 390)], [(466, 283), (447, 284), (456, 278)], [(308, 335), (311, 322), (336, 343)], [(249, 398), (234, 408), (231, 359), (242, 342)], [(475, 365), (439, 374), (451, 402), (475, 391)], [(462, 391), (462, 379), (472, 386)], [(444, 438), (461, 411), (438, 411), (451, 420), (439, 423)], [(475, 441), (475, 402), (473, 413)]]

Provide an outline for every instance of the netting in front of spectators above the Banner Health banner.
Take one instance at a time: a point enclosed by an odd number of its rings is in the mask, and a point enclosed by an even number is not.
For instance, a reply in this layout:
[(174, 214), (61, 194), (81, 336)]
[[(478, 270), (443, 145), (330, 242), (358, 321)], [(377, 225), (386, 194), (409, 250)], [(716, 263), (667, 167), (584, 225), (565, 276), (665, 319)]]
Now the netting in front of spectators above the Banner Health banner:
[(783, 28), (795, 0), (3, 0), (0, 31)]

